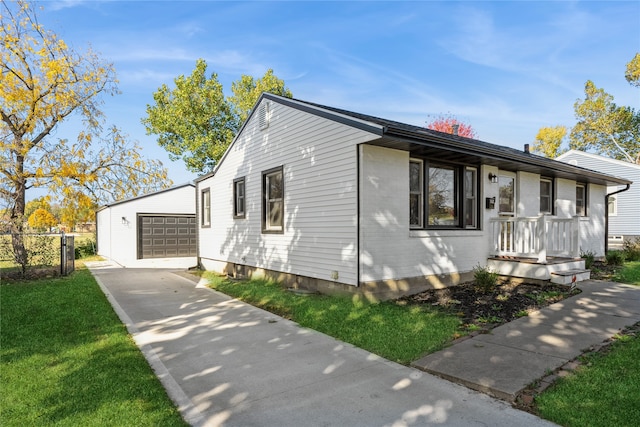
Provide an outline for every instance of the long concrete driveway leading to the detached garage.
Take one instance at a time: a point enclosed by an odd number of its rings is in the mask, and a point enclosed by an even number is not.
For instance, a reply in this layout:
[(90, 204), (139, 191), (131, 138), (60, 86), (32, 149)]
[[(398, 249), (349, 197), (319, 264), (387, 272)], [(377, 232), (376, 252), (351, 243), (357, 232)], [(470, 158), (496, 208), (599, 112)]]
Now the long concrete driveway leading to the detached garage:
[(89, 268), (191, 425), (553, 425), (178, 271)]

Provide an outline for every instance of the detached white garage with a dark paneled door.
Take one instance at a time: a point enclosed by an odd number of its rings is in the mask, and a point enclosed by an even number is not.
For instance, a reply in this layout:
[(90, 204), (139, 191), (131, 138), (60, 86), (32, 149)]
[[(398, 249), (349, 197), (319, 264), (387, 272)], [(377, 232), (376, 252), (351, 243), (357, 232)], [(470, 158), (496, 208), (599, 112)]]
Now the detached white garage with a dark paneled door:
[(195, 266), (194, 188), (178, 185), (100, 208), (98, 255), (125, 267)]

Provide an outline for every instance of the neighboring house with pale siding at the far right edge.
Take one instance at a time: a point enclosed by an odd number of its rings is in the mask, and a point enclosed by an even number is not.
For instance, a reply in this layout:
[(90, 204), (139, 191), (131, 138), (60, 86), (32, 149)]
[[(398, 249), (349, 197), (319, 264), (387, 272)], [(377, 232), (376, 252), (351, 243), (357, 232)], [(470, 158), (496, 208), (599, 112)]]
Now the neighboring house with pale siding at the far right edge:
[(577, 150), (557, 160), (633, 181), (626, 191), (620, 186), (607, 188), (607, 193), (616, 193), (607, 203), (609, 244), (619, 247), (625, 240), (640, 238), (640, 165)]

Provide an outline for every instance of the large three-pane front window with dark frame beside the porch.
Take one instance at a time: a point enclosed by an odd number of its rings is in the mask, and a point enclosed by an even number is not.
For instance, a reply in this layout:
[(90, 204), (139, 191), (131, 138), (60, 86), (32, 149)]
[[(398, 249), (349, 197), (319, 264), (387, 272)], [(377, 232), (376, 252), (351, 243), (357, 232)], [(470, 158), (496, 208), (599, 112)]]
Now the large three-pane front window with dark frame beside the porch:
[(428, 164), (411, 159), (410, 228), (476, 228), (477, 186), (475, 168)]

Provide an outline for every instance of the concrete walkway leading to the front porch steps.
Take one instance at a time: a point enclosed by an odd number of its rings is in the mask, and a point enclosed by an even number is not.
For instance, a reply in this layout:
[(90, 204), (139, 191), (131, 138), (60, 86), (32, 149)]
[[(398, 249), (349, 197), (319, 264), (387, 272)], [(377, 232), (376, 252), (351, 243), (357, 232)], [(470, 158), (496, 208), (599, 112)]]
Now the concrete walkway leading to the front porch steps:
[(528, 384), (640, 321), (640, 287), (590, 280), (582, 293), (412, 365), (513, 401)]

